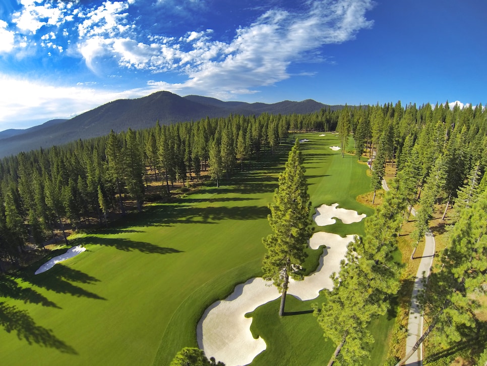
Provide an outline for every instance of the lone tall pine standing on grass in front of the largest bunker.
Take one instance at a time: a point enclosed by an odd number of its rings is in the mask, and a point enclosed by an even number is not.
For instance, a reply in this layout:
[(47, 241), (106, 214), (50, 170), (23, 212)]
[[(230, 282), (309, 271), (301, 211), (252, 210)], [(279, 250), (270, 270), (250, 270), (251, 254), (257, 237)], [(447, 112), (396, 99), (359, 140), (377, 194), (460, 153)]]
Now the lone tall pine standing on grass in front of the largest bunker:
[(263, 278), (273, 281), (282, 293), (279, 316), (284, 313), (289, 277), (302, 280), (302, 264), (306, 257), (307, 240), (313, 232), (310, 219), (311, 202), (307, 193), (305, 168), (302, 166), (299, 142), (289, 152), (279, 186), (269, 204), (268, 216), (273, 234), (263, 239), (267, 248), (262, 271)]

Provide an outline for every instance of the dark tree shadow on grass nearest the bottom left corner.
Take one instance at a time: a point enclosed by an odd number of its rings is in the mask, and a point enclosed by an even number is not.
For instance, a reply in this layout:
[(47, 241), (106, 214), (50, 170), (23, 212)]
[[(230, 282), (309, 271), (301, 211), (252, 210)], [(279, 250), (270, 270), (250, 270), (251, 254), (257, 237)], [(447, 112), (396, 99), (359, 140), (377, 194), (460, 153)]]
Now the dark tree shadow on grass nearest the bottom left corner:
[(57, 338), (50, 329), (35, 324), (26, 310), (0, 302), (0, 326), (7, 333), (16, 333), (19, 339), (29, 344), (38, 344), (43, 347), (55, 348), (63, 353), (78, 354), (76, 350)]

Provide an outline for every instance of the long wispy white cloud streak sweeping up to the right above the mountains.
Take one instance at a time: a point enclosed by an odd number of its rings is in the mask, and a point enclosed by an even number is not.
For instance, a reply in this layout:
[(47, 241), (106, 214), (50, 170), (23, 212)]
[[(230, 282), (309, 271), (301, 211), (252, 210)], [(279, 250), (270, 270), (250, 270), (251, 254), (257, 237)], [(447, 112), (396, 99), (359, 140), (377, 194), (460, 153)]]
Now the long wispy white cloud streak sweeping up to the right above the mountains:
[[(207, 35), (189, 32), (181, 40), (193, 41), (193, 50), (183, 53), (179, 51), (179, 44), (171, 44), (178, 51), (174, 58), (179, 60), (178, 66), (188, 80), (161, 85), (171, 90), (188, 88), (227, 98), (254, 93), (259, 86), (289, 78), (287, 69), (292, 62), (312, 62), (306, 60), (305, 55), (313, 55), (313, 51), (324, 44), (353, 39), (360, 29), (373, 24), (364, 16), (373, 6), (368, 0), (310, 4), (309, 10), (303, 13), (268, 11), (248, 27), (237, 29), (229, 43), (211, 41)], [(149, 69), (166, 66), (164, 59), (157, 55), (151, 60), (159, 63), (151, 64), (148, 60), (144, 65)]]

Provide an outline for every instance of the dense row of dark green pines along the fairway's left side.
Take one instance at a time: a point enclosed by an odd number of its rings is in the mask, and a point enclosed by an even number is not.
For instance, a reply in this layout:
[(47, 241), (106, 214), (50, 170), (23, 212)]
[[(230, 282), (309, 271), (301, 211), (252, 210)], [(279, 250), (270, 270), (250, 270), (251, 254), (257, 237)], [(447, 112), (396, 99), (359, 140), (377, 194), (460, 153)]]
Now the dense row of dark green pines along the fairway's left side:
[[(208, 174), (217, 185), (262, 153), (273, 153), (289, 131), (334, 129), (337, 112), (259, 117), (230, 115), (113, 131), (99, 138), (21, 152), (0, 161), (0, 271), (19, 264), (27, 244), (43, 247), (54, 232), (106, 225), (110, 213), (171, 193), (176, 182)], [(162, 189), (146, 194), (148, 181)]]

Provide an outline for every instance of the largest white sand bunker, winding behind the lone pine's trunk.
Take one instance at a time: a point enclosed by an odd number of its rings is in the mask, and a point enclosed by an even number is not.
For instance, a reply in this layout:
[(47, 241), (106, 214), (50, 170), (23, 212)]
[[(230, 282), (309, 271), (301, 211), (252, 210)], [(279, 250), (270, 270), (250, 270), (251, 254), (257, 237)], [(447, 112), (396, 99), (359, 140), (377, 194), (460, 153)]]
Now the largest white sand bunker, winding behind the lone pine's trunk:
[[(313, 249), (325, 246), (318, 268), (303, 281), (291, 279), (287, 293), (304, 301), (316, 298), (324, 288), (331, 290), (333, 282), (330, 276), (340, 270), (347, 244), (352, 240), (353, 235), (342, 238), (337, 234), (315, 233), (310, 239), (310, 246)], [(277, 288), (262, 278), (237, 285), (230, 296), (205, 310), (196, 331), (198, 346), (208, 357), (215, 357), (227, 366), (251, 363), (267, 345), (262, 338), (254, 339), (250, 331), (252, 318), (245, 318), (245, 314), (279, 296)]]

